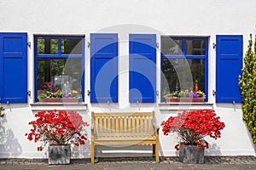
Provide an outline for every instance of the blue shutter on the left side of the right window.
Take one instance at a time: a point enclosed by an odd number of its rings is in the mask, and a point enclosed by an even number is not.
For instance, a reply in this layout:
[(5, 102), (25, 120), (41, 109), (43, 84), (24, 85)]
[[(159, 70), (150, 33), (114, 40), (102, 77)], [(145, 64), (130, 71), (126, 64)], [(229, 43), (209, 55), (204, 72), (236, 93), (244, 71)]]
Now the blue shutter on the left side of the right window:
[(155, 102), (156, 92), (156, 36), (155, 34), (130, 34), (130, 93), (134, 102)]

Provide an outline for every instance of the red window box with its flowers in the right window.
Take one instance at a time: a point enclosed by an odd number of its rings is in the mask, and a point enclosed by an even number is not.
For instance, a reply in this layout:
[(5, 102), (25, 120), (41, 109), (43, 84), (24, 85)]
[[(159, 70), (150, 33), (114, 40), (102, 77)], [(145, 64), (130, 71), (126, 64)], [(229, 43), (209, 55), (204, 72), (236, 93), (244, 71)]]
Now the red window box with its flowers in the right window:
[(201, 90), (196, 92), (186, 90), (176, 90), (165, 96), (166, 102), (204, 102), (206, 94)]

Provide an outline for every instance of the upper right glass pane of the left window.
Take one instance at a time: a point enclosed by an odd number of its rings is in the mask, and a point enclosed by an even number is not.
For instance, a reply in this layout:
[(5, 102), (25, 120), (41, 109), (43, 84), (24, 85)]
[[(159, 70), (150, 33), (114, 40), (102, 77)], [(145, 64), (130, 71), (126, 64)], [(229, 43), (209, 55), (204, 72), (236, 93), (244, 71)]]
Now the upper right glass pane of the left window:
[(82, 54), (82, 40), (61, 39), (61, 54)]

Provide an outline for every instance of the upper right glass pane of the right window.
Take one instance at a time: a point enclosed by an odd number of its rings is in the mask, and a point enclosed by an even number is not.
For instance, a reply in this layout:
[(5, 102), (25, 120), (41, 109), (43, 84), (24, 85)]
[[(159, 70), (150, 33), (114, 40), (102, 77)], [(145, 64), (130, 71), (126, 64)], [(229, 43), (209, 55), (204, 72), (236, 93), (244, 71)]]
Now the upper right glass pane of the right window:
[(186, 55), (205, 55), (205, 40), (186, 40)]

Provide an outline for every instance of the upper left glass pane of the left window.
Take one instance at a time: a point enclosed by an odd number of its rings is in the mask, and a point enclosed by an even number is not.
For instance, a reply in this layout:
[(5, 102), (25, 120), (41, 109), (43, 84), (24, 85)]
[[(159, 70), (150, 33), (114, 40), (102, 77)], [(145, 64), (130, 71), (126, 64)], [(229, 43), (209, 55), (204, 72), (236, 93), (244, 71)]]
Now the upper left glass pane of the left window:
[(58, 39), (38, 39), (38, 54), (58, 54)]

